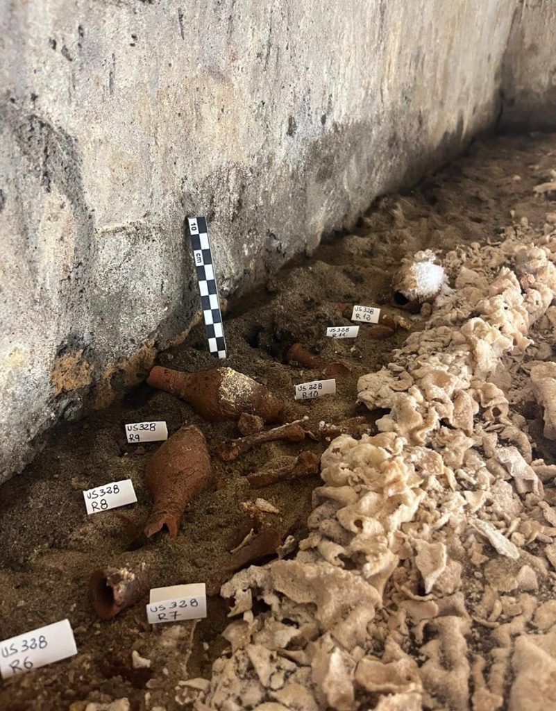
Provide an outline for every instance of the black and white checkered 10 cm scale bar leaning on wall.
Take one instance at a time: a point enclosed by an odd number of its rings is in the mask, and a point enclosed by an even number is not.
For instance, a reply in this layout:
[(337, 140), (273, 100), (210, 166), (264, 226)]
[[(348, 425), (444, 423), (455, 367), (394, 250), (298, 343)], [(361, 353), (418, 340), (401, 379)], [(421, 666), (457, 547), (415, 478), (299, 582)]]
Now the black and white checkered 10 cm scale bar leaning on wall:
[(191, 235), (199, 292), (201, 293), (201, 306), (207, 331), (208, 350), (210, 353), (218, 355), (218, 358), (225, 358), (224, 326), (214, 274), (213, 252), (210, 250), (210, 240), (208, 239), (207, 221), (205, 218), (187, 218), (187, 224)]

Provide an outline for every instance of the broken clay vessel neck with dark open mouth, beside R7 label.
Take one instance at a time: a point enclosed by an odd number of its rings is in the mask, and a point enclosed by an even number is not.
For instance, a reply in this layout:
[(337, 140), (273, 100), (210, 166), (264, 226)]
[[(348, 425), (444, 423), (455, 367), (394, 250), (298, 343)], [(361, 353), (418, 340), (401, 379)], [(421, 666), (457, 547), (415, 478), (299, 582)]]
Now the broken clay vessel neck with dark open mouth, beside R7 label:
[(115, 617), (126, 607), (139, 602), (150, 587), (150, 572), (144, 563), (95, 570), (89, 579), (92, 606), (103, 620)]

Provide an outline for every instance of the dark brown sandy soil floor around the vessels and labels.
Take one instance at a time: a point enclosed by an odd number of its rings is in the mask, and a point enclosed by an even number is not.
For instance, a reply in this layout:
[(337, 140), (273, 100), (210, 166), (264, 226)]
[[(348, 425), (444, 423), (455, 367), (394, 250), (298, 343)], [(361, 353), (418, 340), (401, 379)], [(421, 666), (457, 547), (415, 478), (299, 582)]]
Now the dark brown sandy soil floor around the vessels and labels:
[[(309, 418), (309, 429), (322, 420), (339, 422), (355, 415), (368, 417), (372, 425), (380, 413), (356, 404), (357, 380), (388, 363), (407, 331), (398, 328), (378, 340), (362, 324), (358, 338), (339, 341), (324, 336), (326, 327), (351, 324), (343, 315), (346, 304), (401, 314), (391, 301), (391, 275), (412, 252), (496, 241), (502, 228), (521, 218), (542, 232), (556, 201), (535, 195), (533, 188), (553, 179), (555, 166), (556, 136), (476, 141), (465, 156), (417, 188), (380, 199), (352, 234), (324, 240), (312, 257), (299, 257), (258, 292), (230, 301), (226, 365), (290, 402), (299, 417)], [(412, 328), (422, 324), (420, 316), (413, 318)], [(348, 366), (349, 373), (336, 376), (336, 396), (294, 402), (296, 383), (321, 377), (318, 370), (287, 363), (285, 353), (297, 341), (328, 363)], [(207, 352), (201, 324), (185, 343), (161, 353), (159, 363), (189, 373), (221, 365)], [(210, 597), (207, 619), (196, 624), (153, 629), (146, 624), (142, 603), (112, 621), (99, 621), (87, 594), (90, 573), (154, 554), (153, 586), (221, 577), (230, 550), (253, 525), (242, 504), (257, 497), (280, 511), (264, 514), (263, 526), (278, 528), (282, 538), (292, 535), (299, 541), (306, 535), (317, 476), (255, 491), (245, 475), (303, 449), (321, 454), (326, 444), (310, 439), (264, 444), (228, 464), (213, 456), (213, 486), (188, 506), (178, 537), (161, 533), (144, 547), (129, 550), (122, 521), (114, 511), (87, 516), (82, 491), (132, 479), (138, 501), (123, 510), (142, 528), (150, 506), (144, 468), (159, 444), (127, 444), (124, 424), (152, 420), (166, 420), (170, 434), (183, 424), (198, 425), (213, 453), (225, 439), (237, 436), (235, 423), (205, 422), (186, 402), (141, 385), (107, 410), (60, 424), (33, 464), (1, 487), (0, 639), (68, 617), (78, 648), (74, 658), (0, 681), (1, 709), (84, 711), (87, 702), (122, 698), (134, 711), (181, 708), (175, 700), (178, 683), (209, 678), (213, 661), (228, 644), (220, 634), (229, 621), (227, 602)], [(538, 456), (552, 463), (550, 447), (542, 444), (540, 420), (530, 424), (539, 432)], [(150, 666), (134, 668), (132, 651), (149, 659)]]

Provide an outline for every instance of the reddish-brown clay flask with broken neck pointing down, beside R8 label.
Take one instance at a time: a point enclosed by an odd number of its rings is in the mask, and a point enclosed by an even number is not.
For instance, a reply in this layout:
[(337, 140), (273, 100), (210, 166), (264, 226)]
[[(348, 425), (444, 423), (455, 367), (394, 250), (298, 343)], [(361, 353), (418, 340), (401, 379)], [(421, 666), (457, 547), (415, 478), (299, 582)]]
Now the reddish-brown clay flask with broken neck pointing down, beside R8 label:
[(188, 503), (210, 483), (210, 456), (203, 432), (194, 426), (178, 429), (152, 456), (145, 475), (154, 500), (145, 535), (150, 537), (166, 526), (173, 537)]

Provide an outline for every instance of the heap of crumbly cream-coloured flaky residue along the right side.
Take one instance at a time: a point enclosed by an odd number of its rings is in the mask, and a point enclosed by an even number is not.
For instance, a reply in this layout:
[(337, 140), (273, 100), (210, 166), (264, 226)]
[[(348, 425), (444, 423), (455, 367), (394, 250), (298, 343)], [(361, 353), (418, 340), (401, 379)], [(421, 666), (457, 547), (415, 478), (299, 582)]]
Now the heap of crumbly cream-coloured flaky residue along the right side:
[(196, 711), (533, 711), (556, 698), (556, 618), (535, 597), (552, 594), (556, 472), (533, 460), (513, 409), (532, 397), (533, 339), (554, 341), (555, 255), (550, 236), (525, 237), (523, 225), (450, 252), (455, 288), (427, 328), (360, 378), (360, 402), (388, 411), (379, 434), (328, 447), (296, 557), (223, 586), (237, 619)]

